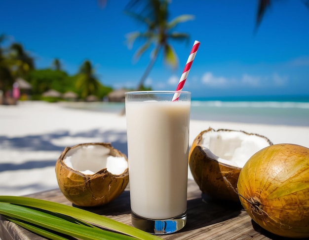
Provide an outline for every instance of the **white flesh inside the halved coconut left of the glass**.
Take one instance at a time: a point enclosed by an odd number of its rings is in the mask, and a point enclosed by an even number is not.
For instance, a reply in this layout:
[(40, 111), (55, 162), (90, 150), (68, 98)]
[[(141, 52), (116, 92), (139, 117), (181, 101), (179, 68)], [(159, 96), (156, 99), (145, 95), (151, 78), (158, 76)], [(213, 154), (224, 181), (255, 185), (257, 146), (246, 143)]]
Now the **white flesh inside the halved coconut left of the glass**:
[(120, 175), (128, 168), (124, 157), (110, 155), (110, 149), (101, 145), (86, 145), (70, 149), (64, 160), (69, 168), (86, 175), (92, 175), (107, 169), (114, 175)]

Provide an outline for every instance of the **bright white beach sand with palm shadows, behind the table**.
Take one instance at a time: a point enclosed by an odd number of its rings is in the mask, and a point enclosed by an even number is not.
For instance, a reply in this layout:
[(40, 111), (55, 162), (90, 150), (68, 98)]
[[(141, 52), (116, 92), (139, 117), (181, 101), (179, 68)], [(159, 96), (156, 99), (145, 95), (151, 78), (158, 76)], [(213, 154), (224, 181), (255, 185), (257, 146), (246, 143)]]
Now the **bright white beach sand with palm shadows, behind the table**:
[[(208, 127), (243, 130), (266, 136), (273, 143), (309, 147), (309, 127), (194, 120), (190, 144)], [(111, 142), (127, 154), (125, 116), (69, 109), (62, 103), (0, 105), (0, 195), (20, 196), (58, 188), (56, 160), (66, 146), (84, 142)]]

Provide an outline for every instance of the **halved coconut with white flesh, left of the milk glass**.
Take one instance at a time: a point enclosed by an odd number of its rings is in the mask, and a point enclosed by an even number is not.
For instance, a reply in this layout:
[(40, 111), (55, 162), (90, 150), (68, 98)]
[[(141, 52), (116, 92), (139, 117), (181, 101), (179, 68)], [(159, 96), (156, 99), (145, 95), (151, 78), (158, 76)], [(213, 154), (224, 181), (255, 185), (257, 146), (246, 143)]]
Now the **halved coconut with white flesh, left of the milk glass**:
[(129, 182), (128, 159), (110, 143), (66, 147), (56, 162), (64, 196), (77, 206), (99, 206), (118, 197)]

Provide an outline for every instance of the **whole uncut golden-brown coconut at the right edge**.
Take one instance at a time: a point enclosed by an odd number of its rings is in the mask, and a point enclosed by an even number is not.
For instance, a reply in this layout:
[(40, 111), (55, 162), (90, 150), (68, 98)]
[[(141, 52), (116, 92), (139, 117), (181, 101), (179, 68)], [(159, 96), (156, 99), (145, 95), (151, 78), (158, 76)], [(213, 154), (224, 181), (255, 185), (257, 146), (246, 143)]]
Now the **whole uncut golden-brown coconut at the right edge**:
[(309, 238), (309, 148), (291, 143), (263, 148), (243, 166), (237, 187), (242, 206), (262, 228)]

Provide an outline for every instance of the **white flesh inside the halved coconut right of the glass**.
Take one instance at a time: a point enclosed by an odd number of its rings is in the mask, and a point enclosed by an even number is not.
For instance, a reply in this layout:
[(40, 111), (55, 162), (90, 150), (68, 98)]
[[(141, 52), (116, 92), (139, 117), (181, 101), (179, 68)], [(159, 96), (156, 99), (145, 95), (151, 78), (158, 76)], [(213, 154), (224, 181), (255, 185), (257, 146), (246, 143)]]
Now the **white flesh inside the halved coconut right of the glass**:
[(270, 145), (264, 137), (238, 131), (205, 132), (200, 144), (208, 157), (238, 168), (254, 153)]

